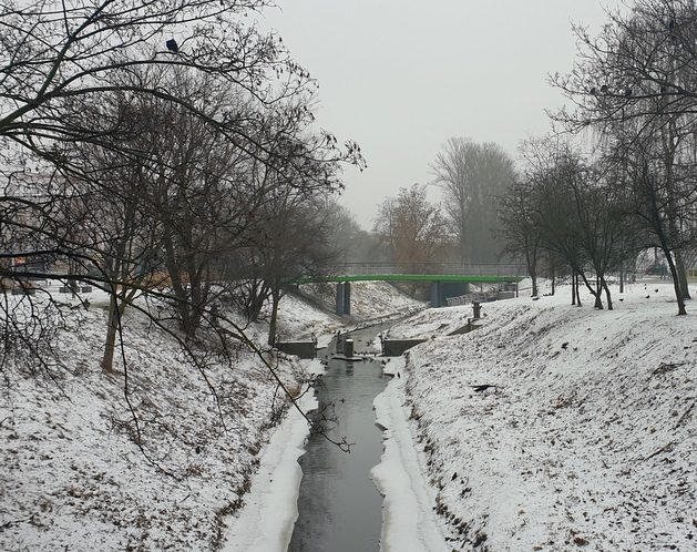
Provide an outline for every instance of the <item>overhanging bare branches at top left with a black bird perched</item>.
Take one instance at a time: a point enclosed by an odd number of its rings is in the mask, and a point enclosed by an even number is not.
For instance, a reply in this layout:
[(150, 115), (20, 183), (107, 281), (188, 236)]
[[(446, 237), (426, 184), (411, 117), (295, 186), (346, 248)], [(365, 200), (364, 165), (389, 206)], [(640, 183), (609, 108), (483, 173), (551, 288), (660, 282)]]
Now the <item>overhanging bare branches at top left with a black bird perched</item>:
[[(293, 136), (298, 123), (312, 120), (305, 102), (316, 83), (289, 58), (280, 38), (247, 23), (250, 11), (267, 6), (271, 2), (6, 2), (0, 7), (0, 135), (22, 146), (19, 154), (11, 150), (20, 164), (25, 161), (23, 151), (61, 162), (53, 151), (57, 143), (99, 142), (104, 133), (114, 132), (107, 126), (95, 131), (94, 120), (80, 115), (85, 104), (99, 105), (104, 93), (121, 91), (177, 104), (249, 154), (279, 155), (263, 137), (266, 121), (289, 126), (288, 137)], [(164, 68), (205, 74), (206, 86), (214, 91), (240, 91), (256, 113), (240, 116), (234, 106), (212, 113), (193, 96), (181, 95)], [(147, 78), (152, 69), (163, 76)], [(347, 142), (339, 153), (329, 134), (305, 145), (306, 156), (360, 163), (356, 144)], [(301, 172), (300, 156), (285, 170)]]

